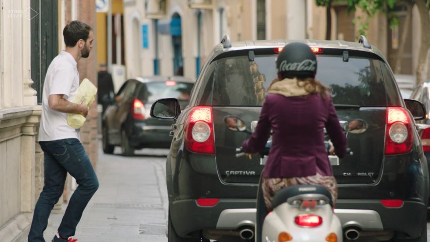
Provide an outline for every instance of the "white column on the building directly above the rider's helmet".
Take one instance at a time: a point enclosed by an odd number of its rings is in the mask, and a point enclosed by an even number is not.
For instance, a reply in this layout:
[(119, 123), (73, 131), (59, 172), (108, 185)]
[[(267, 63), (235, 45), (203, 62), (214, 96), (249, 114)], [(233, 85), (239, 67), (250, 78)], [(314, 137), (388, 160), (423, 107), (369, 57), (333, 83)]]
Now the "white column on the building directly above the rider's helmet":
[(306, 2), (304, 0), (287, 1), (287, 38), (306, 38)]

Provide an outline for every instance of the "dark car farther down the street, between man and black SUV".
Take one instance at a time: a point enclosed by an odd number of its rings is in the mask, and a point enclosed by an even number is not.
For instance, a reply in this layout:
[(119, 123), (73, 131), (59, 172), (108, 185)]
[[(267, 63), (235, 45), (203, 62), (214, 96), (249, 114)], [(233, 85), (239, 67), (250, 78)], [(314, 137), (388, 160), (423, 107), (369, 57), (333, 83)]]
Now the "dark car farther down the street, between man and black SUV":
[(185, 77), (138, 77), (127, 80), (103, 115), (103, 152), (112, 154), (120, 146), (122, 154), (131, 156), (145, 147), (169, 148), (173, 122), (150, 117), (155, 100), (177, 98), (184, 108), (194, 81)]

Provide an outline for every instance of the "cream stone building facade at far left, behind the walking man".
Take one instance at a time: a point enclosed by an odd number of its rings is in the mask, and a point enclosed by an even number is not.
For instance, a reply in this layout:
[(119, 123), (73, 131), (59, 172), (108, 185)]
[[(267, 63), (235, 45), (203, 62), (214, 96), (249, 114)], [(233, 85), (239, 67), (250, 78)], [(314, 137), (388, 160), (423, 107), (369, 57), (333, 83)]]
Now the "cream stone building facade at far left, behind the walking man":
[[(42, 176), (31, 87), (30, 0), (0, 0), (0, 241), (24, 241)], [(30, 14), (30, 16), (27, 16)], [(36, 163), (39, 163), (36, 165)]]

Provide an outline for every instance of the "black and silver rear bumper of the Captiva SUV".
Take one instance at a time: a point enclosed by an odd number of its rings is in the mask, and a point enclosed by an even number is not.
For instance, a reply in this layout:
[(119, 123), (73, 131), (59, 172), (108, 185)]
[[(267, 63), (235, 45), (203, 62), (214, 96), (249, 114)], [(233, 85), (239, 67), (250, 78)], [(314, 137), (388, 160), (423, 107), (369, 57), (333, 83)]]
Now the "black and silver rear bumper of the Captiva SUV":
[[(172, 223), (180, 236), (202, 229), (235, 230), (254, 226), (254, 199), (221, 199), (213, 207), (198, 206), (195, 200), (173, 202)], [(363, 231), (397, 231), (415, 238), (427, 225), (427, 207), (418, 202), (404, 202), (402, 207), (384, 207), (378, 200), (338, 200), (335, 209), (343, 229), (358, 227)]]

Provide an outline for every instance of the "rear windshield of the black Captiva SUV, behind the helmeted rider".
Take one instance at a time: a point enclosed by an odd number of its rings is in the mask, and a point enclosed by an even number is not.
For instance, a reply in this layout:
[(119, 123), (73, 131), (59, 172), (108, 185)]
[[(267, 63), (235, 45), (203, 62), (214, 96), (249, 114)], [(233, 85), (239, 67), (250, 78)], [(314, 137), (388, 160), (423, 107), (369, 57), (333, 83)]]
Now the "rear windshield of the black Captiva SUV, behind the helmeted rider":
[[(261, 106), (266, 89), (276, 78), (276, 55), (226, 57), (215, 69), (212, 105)], [(317, 55), (316, 79), (332, 90), (334, 104), (386, 106), (387, 95), (380, 60)]]

